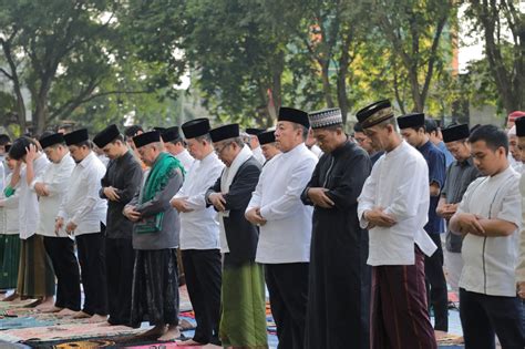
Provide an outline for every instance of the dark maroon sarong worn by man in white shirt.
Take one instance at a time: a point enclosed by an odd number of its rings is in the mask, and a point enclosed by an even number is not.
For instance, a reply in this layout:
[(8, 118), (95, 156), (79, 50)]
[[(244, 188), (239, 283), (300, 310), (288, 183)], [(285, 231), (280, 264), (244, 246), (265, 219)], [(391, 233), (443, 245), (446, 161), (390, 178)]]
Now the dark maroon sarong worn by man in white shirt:
[(372, 349), (435, 349), (424, 284), (424, 255), (410, 266), (372, 267)]

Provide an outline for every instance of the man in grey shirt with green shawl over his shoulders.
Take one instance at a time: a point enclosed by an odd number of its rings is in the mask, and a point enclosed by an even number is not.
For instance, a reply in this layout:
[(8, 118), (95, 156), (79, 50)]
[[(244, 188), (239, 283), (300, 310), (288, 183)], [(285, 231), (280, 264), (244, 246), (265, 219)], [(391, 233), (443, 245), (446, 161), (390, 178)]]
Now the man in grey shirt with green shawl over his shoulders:
[(140, 193), (124, 207), (124, 215), (135, 223), (131, 325), (140, 327), (147, 316), (154, 328), (143, 336), (174, 340), (179, 337), (177, 247), (181, 222), (169, 201), (183, 184), (183, 166), (164, 152), (158, 131), (137, 135), (133, 142), (151, 170)]

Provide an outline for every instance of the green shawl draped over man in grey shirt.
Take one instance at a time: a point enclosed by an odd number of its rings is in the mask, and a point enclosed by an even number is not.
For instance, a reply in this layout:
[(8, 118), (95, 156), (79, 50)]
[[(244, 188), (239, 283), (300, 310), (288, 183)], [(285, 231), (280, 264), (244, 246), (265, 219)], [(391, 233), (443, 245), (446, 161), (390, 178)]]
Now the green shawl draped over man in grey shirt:
[[(184, 175), (184, 167), (177, 158), (171, 154), (161, 153), (153, 164), (152, 170), (150, 170), (138, 204), (147, 203), (155, 197), (155, 194), (164, 189), (177, 168), (181, 170)], [(135, 224), (134, 232), (138, 234), (161, 232), (163, 217), (164, 212), (159, 212), (152, 217), (143, 218)]]

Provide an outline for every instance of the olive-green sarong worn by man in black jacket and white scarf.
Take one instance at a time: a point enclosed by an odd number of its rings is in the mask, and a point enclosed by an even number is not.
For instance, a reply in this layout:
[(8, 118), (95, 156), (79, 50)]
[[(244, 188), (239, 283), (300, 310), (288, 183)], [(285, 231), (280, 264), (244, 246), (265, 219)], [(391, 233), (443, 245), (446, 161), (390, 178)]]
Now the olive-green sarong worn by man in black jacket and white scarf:
[(261, 265), (224, 266), (222, 304), (219, 337), (224, 347), (268, 348)]

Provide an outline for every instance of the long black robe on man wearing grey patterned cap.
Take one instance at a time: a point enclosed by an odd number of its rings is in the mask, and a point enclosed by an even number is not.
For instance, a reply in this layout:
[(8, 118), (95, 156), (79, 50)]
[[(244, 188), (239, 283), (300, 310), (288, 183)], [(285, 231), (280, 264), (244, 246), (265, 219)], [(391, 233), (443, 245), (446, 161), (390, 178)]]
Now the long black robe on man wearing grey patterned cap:
[(370, 175), (368, 154), (351, 142), (323, 154), (301, 195), (325, 187), (332, 208), (316, 206), (311, 236), (306, 348), (369, 348), (368, 232), (358, 219), (358, 196)]

